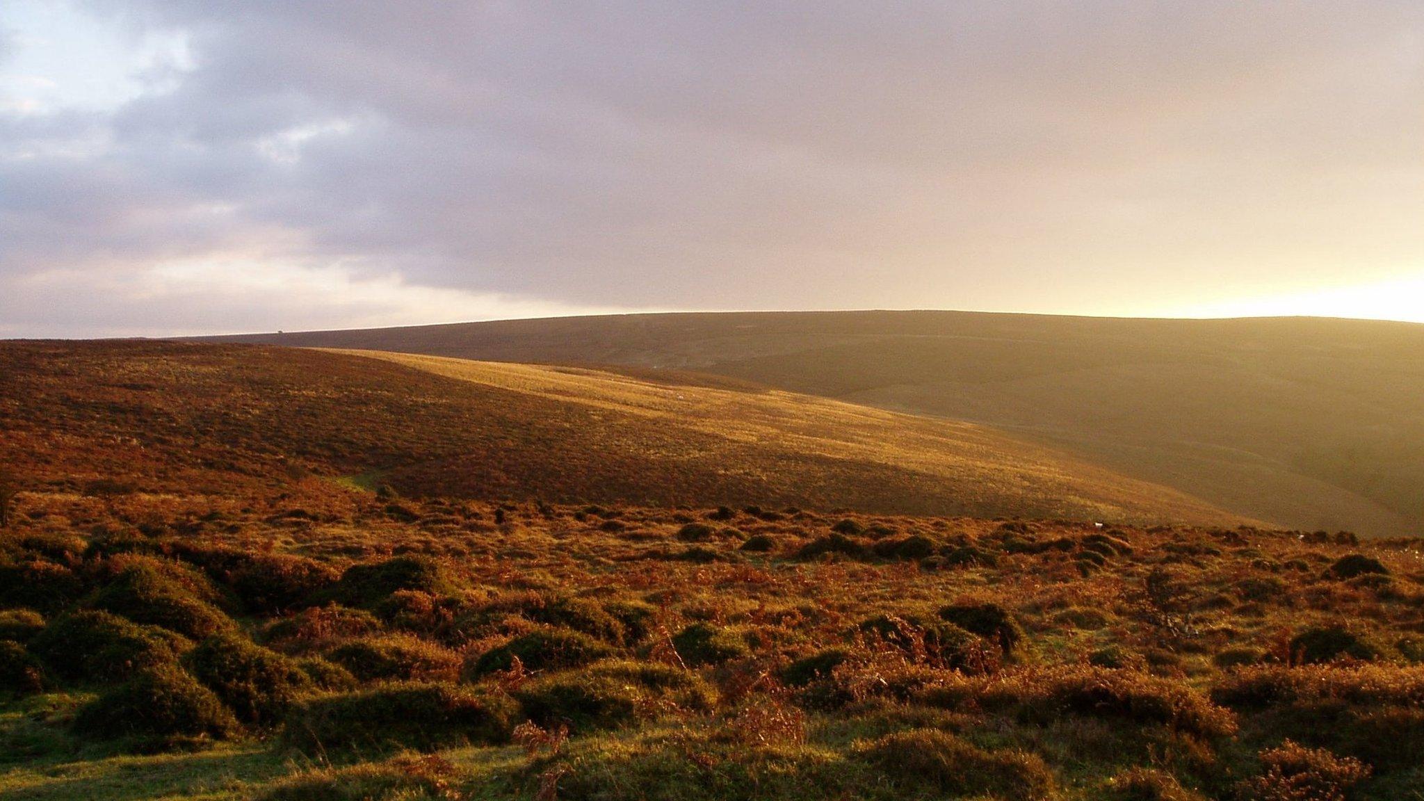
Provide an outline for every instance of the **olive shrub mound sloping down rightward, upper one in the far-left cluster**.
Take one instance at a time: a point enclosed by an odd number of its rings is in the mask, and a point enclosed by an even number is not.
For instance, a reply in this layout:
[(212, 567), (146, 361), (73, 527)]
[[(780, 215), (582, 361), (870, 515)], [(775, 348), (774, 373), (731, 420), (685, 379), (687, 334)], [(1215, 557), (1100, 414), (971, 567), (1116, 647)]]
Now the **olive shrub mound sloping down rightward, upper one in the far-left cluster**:
[(121, 570), (90, 599), (90, 606), (195, 640), (232, 629), (232, 620), (226, 614), (147, 563)]

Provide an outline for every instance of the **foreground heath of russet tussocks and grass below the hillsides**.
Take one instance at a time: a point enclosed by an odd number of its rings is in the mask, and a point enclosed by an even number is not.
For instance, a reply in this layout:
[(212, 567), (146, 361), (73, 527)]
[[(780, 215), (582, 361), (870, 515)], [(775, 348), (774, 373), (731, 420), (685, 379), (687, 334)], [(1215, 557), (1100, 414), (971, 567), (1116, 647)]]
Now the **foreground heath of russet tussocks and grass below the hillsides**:
[(0, 800), (1418, 798), (1415, 549), (24, 492)]

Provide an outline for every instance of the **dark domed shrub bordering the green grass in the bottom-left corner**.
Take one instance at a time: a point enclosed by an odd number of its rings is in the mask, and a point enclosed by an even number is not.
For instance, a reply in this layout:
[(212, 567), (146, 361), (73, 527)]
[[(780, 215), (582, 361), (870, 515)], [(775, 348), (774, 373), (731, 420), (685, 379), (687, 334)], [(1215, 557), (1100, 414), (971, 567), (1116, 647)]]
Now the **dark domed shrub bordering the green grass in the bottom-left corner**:
[(145, 670), (80, 708), (74, 731), (101, 740), (225, 740), (241, 731), (218, 697), (175, 666)]

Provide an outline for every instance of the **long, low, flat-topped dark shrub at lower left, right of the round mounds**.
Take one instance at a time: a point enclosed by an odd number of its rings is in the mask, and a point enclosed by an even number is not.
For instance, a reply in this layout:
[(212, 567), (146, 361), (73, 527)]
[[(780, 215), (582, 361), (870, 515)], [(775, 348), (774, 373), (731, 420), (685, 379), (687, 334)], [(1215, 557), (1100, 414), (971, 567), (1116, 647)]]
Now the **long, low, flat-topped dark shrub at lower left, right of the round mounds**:
[(282, 740), (308, 754), (336, 750), (498, 745), (510, 738), (513, 703), (453, 684), (386, 684), (296, 704)]

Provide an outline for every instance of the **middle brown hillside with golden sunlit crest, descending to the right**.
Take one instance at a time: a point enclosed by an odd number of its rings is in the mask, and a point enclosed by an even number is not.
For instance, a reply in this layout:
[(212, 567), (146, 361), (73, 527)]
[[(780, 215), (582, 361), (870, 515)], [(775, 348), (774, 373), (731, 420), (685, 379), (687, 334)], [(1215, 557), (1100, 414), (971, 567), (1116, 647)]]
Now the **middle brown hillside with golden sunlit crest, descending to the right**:
[(158, 342), (0, 343), (28, 486), (231, 492), (308, 472), (409, 495), (1232, 524), (980, 426), (525, 365)]

